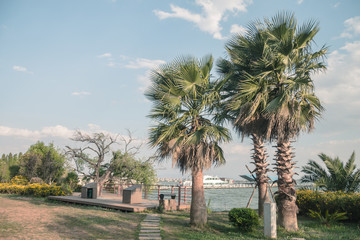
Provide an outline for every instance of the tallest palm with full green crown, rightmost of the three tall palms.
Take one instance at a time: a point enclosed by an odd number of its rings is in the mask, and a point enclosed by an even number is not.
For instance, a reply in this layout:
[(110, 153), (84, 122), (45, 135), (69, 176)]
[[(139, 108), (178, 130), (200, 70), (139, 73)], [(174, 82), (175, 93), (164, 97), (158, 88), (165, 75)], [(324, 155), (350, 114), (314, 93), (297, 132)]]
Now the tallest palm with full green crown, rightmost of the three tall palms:
[[(258, 21), (250, 30), (263, 39), (260, 50), (254, 50), (261, 52), (261, 57), (250, 62), (254, 70), (243, 74), (232, 99), (240, 100), (238, 108), (246, 110), (244, 119), (265, 119), (264, 139), (277, 140), (279, 223), (288, 231), (296, 231), (291, 140), (301, 131), (311, 131), (323, 110), (314, 94), (311, 75), (325, 69), (322, 58), (327, 49), (322, 47), (313, 52), (311, 43), (319, 31), (318, 24), (308, 21), (298, 26), (290, 13)], [(252, 46), (258, 45), (249, 45), (249, 48)]]

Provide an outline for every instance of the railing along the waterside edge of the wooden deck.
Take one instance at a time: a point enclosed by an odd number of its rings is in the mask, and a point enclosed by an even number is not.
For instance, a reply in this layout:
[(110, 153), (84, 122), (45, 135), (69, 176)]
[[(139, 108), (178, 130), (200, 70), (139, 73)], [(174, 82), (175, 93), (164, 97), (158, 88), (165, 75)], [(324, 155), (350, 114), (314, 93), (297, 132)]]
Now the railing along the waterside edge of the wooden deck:
[[(123, 190), (133, 186), (133, 184), (105, 183), (100, 185), (100, 196), (103, 193), (112, 193), (114, 197), (122, 197)], [(191, 186), (171, 186), (171, 185), (144, 185), (142, 184), (143, 199), (159, 200), (160, 194), (176, 194), (178, 206), (191, 202)]]

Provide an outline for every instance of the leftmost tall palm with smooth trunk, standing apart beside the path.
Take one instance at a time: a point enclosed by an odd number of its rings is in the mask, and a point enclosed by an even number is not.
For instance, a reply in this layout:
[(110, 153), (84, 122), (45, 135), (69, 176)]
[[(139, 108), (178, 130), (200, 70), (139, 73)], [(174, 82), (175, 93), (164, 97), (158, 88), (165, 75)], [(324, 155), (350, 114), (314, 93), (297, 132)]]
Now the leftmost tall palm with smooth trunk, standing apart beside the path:
[(207, 222), (203, 170), (225, 162), (219, 143), (230, 140), (230, 132), (213, 123), (212, 103), (220, 97), (220, 85), (210, 81), (212, 56), (198, 61), (178, 58), (153, 72), (146, 96), (153, 102), (149, 117), (150, 143), (159, 160), (172, 158), (184, 173), (192, 174), (190, 224)]

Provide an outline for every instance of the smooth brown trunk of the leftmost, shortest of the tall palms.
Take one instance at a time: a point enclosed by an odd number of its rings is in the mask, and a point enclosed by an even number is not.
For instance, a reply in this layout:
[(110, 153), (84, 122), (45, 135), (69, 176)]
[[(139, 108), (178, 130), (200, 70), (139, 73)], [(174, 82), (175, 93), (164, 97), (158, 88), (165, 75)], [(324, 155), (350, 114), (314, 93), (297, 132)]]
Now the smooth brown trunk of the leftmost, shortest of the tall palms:
[(190, 224), (203, 227), (207, 223), (207, 210), (205, 203), (203, 170), (192, 171)]

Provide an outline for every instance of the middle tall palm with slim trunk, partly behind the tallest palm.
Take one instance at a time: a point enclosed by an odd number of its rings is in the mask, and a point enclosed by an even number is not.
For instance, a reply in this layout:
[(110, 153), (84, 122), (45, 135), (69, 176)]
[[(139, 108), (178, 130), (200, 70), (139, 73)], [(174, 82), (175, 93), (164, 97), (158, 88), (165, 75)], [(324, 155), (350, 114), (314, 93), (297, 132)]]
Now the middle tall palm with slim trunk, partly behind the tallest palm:
[(267, 38), (264, 32), (256, 27), (257, 24), (258, 22), (251, 23), (245, 35), (235, 35), (226, 44), (229, 60), (218, 61), (218, 70), (224, 78), (223, 101), (220, 104), (221, 117), (230, 120), (242, 139), (246, 136), (251, 137), (253, 141), (252, 159), (255, 164), (253, 172), (256, 173), (259, 193), (259, 216), (263, 217), (264, 203), (270, 201), (267, 191), (269, 163), (266, 160), (264, 147), (264, 142), (269, 140), (267, 137), (269, 121), (257, 106), (260, 104), (263, 105), (262, 108), (265, 107), (268, 87), (266, 81), (255, 81), (250, 95), (243, 92), (244, 89), (241, 87), (251, 75), (260, 74), (263, 70), (257, 67), (256, 62), (262, 58)]

